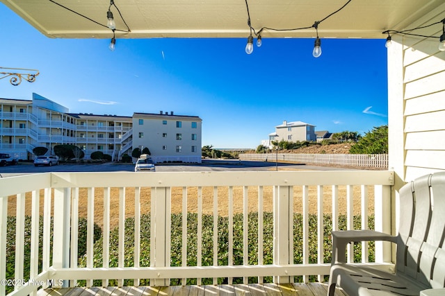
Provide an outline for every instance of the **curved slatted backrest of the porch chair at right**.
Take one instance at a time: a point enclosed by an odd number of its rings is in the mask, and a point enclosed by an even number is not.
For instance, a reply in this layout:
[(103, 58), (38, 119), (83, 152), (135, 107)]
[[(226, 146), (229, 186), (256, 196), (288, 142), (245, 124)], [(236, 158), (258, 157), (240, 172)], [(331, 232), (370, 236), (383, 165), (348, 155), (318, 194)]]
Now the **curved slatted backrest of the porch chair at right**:
[(419, 177), (400, 192), (397, 272), (445, 287), (445, 172)]

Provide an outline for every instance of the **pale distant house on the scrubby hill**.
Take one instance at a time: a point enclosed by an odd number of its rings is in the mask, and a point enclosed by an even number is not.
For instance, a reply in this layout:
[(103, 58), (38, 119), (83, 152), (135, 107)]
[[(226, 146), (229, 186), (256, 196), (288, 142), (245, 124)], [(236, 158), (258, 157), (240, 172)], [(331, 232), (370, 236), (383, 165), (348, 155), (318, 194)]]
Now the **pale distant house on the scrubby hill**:
[(315, 125), (302, 121), (283, 121), (282, 124), (275, 126), (275, 132), (269, 134), (268, 143), (264, 146), (271, 148), (272, 141), (316, 141)]

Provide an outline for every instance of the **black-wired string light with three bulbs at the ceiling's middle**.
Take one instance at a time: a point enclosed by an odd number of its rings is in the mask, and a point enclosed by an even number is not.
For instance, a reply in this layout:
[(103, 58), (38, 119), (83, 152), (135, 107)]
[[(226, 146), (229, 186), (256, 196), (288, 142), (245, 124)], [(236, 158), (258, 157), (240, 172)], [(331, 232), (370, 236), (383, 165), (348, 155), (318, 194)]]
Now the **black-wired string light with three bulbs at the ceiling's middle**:
[[(245, 0), (245, 6), (246, 6), (247, 12), (248, 12), (248, 26), (250, 28), (250, 36), (248, 37), (248, 44), (245, 46), (245, 52), (250, 54), (253, 51), (253, 46), (250, 45), (251, 38), (252, 38), (252, 44), (253, 44), (252, 32), (254, 33), (254, 35), (257, 36), (257, 46), (260, 47), (261, 44), (263, 43), (262, 38), (261, 38), (261, 32), (263, 32), (264, 30), (268, 30), (268, 31), (298, 31), (298, 30), (305, 30), (305, 29), (309, 29), (309, 28), (315, 28), (317, 37), (316, 37), (316, 40), (314, 43), (314, 50), (312, 51), (312, 55), (314, 55), (315, 58), (318, 58), (321, 55), (321, 39), (318, 37), (318, 24), (321, 24), (322, 21), (325, 21), (329, 17), (332, 17), (332, 15), (335, 15), (337, 12), (340, 12), (340, 10), (345, 8), (351, 1), (353, 1), (353, 0), (348, 0), (343, 6), (341, 6), (341, 8), (330, 13), (330, 15), (327, 15), (327, 17), (325, 17), (324, 19), (321, 19), (321, 21), (315, 21), (312, 26), (306, 26), (306, 27), (300, 27), (300, 28), (282, 28), (282, 29), (263, 27), (263, 28), (259, 29), (259, 31), (257, 33), (257, 31), (255, 31), (255, 29), (250, 24), (249, 4), (248, 4), (248, 0)], [(249, 52), (248, 52), (248, 47), (249, 47)]]

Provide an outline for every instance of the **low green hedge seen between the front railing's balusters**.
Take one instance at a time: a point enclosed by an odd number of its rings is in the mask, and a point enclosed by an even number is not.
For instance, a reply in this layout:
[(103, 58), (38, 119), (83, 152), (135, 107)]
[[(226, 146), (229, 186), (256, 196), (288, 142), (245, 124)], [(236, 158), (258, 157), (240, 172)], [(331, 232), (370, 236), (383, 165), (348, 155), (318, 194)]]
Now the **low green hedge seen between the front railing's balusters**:
[[(263, 262), (264, 264), (273, 264), (273, 214), (266, 212), (264, 217), (263, 229)], [(309, 263), (317, 263), (317, 216), (309, 215)], [(323, 261), (330, 263), (332, 259), (332, 217), (325, 215), (324, 221), (324, 254)], [(182, 264), (182, 215), (172, 214), (171, 216), (171, 241), (170, 241), (170, 265), (181, 266)], [(369, 218), (369, 229), (373, 229), (373, 218)], [(302, 263), (302, 215), (295, 214), (293, 222), (293, 262)], [(150, 258), (150, 217), (149, 214), (141, 216), (140, 222), (140, 266), (149, 266)], [(234, 265), (243, 265), (243, 214), (234, 215)], [(354, 217), (354, 228), (361, 229), (361, 217)], [(346, 229), (346, 216), (339, 217), (339, 229)], [(119, 229), (116, 227), (110, 234), (110, 267), (118, 267), (118, 236)], [(229, 218), (218, 216), (218, 265), (227, 265), (229, 262)], [(127, 218), (125, 221), (125, 247), (124, 247), (124, 266), (134, 264), (134, 219)], [(258, 214), (250, 213), (248, 216), (248, 243), (249, 254), (248, 264), (258, 264)], [(354, 258), (356, 262), (361, 261), (362, 248), (360, 244), (354, 247)], [(94, 266), (102, 267), (102, 238), (94, 246)], [(197, 265), (197, 214), (187, 214), (187, 265)], [(369, 261), (374, 261), (374, 245), (369, 244)], [(213, 265), (213, 216), (202, 215), (202, 266)], [(86, 258), (79, 260), (79, 267), (86, 266)], [(264, 282), (271, 282), (272, 277), (265, 277)], [(294, 279), (296, 282), (302, 282), (302, 277)], [(309, 277), (309, 280), (316, 281), (316, 277)], [(234, 284), (242, 284), (242, 278), (234, 278)], [(256, 283), (257, 277), (249, 278), (250, 283)], [(212, 284), (213, 279), (202, 279), (202, 284)], [(79, 282), (79, 284), (84, 284)], [(116, 286), (115, 280), (109, 281), (110, 286)], [(132, 279), (124, 281), (124, 285), (131, 286)], [(170, 279), (170, 284), (179, 285), (181, 279)], [(196, 279), (188, 278), (187, 284), (197, 284)], [(219, 278), (218, 284), (227, 284), (227, 278)], [(101, 281), (96, 281), (95, 285), (102, 285)], [(149, 285), (148, 279), (141, 279), (140, 285)]]

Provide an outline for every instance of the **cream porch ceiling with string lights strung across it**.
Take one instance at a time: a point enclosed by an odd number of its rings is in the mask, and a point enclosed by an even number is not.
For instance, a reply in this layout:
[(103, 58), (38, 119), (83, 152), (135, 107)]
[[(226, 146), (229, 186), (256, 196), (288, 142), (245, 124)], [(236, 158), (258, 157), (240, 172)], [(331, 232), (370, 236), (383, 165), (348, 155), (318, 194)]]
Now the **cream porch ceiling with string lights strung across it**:
[[(106, 25), (109, 0), (54, 0), (92, 20), (76, 15), (50, 0), (0, 0), (48, 37), (110, 38)], [(312, 26), (341, 8), (347, 0), (248, 0), (252, 26), (270, 28)], [(437, 8), (443, 0), (353, 0), (337, 15), (318, 26), (320, 37), (384, 38), (382, 31), (400, 30)], [(244, 0), (115, 0), (130, 32), (111, 8), (116, 37), (247, 37)], [(122, 30), (122, 31), (118, 31)], [(272, 32), (263, 37), (314, 37), (314, 28)]]

